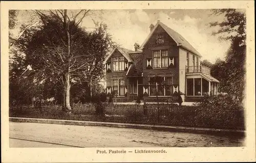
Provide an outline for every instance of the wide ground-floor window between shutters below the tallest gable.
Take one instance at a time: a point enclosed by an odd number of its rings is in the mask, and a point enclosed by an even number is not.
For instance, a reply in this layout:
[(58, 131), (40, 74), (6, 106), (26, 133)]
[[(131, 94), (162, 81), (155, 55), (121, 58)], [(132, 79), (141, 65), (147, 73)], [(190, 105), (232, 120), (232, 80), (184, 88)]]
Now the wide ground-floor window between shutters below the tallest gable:
[(172, 96), (173, 77), (160, 77), (160, 80), (162, 81), (161, 83), (150, 82), (150, 96), (156, 96), (157, 93), (158, 96)]

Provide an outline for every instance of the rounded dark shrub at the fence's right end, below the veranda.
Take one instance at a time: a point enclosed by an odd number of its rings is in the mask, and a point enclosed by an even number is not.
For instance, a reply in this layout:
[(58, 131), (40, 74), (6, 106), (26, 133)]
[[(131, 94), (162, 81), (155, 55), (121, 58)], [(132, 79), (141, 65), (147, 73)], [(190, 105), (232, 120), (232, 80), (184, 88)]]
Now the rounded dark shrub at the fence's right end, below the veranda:
[(243, 112), (243, 105), (230, 95), (208, 96), (196, 103), (196, 106), (195, 123), (199, 127), (244, 127), (244, 117), (240, 114)]

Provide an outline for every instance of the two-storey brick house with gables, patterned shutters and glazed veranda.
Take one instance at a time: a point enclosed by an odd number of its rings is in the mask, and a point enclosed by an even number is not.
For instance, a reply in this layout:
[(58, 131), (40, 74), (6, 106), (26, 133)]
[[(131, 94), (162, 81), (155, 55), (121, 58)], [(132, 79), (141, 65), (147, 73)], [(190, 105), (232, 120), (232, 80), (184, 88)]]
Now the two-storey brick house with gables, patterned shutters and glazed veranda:
[[(185, 38), (158, 20), (135, 51), (115, 48), (104, 61), (106, 91), (117, 92), (118, 101), (166, 101), (178, 91), (183, 101), (198, 101), (217, 95), (219, 81), (208, 67), (200, 65), (201, 55)], [(152, 82), (158, 76), (161, 82)]]

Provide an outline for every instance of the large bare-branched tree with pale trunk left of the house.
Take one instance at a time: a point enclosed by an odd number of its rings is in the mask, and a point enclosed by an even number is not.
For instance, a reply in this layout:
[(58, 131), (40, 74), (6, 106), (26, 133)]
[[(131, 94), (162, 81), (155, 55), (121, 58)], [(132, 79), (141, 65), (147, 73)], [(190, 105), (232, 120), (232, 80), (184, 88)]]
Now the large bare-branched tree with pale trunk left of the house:
[(26, 30), (19, 38), (19, 42), (25, 44), (23, 49), (28, 64), (32, 65), (34, 80), (48, 79), (48, 82), (58, 82), (62, 86), (63, 111), (72, 110), (72, 83), (82, 82), (86, 76), (91, 84), (93, 76), (97, 77), (103, 70), (104, 56), (112, 45), (106, 25), (98, 24), (91, 33), (81, 28), (82, 20), (89, 12), (80, 10), (68, 14), (68, 10), (35, 10), (40, 17), (39, 29), (32, 34)]

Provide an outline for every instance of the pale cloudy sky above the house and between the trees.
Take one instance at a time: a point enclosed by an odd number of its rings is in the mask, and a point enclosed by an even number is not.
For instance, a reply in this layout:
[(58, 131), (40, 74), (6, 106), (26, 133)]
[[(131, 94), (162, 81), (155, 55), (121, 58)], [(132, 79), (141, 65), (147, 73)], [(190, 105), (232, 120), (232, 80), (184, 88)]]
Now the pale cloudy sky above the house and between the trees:
[[(82, 26), (90, 31), (95, 28), (94, 22), (99, 21), (108, 25), (108, 32), (113, 41), (122, 47), (134, 50), (134, 44), (141, 45), (150, 33), (149, 26), (157, 20), (181, 34), (202, 55), (202, 60), (214, 63), (217, 58), (224, 59), (229, 48), (229, 41), (220, 41), (218, 36), (212, 36), (218, 27), (210, 28), (209, 23), (223, 21), (223, 15), (211, 15), (211, 10), (91, 10), (83, 19)], [(32, 18), (31, 18), (32, 17)], [(21, 24), (29, 24), (34, 20), (29, 10), (20, 11), (17, 15), (17, 25), (12, 31), (14, 37), (18, 34)]]

